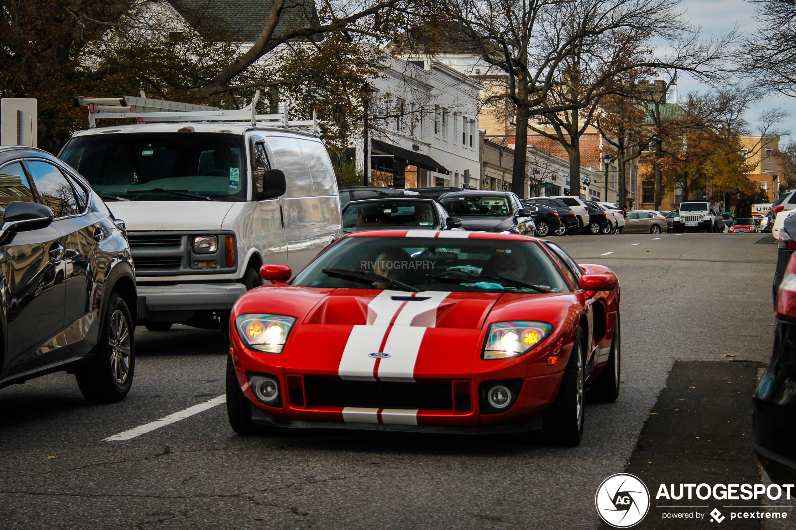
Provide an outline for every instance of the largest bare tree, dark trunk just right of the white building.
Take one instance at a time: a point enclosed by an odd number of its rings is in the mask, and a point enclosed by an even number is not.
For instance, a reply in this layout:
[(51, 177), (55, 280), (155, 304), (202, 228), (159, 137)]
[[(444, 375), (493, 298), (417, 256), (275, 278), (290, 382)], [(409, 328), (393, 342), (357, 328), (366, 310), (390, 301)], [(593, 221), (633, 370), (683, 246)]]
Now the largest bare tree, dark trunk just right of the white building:
[[(431, 6), (451, 20), (482, 60), (503, 75), (504, 89), (491, 96), (513, 112), (516, 128), (513, 174), (525, 175), (529, 120), (540, 114), (580, 110), (600, 95), (602, 87), (634, 68), (673, 69), (709, 77), (726, 60), (732, 33), (702, 42), (683, 21), (676, 3), (665, 0), (443, 0)], [(630, 37), (625, 37), (630, 35)], [(662, 52), (631, 60), (606, 62), (602, 53), (627, 38), (640, 44), (657, 39)], [(565, 79), (573, 57), (593, 65), (594, 77), (576, 101), (551, 103), (552, 91)], [(599, 65), (599, 68), (598, 68)], [(514, 179), (512, 191), (524, 194), (525, 179)]]

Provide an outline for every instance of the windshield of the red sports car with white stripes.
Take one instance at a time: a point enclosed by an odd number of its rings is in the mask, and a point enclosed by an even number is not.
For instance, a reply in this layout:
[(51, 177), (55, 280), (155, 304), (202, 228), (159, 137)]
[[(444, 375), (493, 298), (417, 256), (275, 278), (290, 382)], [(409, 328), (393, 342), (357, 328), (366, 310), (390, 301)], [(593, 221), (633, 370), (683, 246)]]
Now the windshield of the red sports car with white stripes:
[[(324, 273), (344, 269), (363, 279)], [(368, 278), (368, 275), (378, 276)], [(343, 239), (307, 265), (294, 285), (326, 288), (396, 288), (396, 280), (419, 291), (569, 292), (552, 259), (536, 242), (497, 239)], [(527, 287), (533, 285), (537, 288)]]

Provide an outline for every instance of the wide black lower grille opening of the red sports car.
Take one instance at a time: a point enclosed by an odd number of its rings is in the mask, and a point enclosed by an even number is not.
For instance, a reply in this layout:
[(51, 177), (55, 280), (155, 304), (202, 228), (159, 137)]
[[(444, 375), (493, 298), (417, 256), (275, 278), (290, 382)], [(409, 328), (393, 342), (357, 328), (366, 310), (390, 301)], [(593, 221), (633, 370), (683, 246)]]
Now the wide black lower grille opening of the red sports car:
[(340, 381), (304, 376), (307, 405), (453, 410), (451, 382)]

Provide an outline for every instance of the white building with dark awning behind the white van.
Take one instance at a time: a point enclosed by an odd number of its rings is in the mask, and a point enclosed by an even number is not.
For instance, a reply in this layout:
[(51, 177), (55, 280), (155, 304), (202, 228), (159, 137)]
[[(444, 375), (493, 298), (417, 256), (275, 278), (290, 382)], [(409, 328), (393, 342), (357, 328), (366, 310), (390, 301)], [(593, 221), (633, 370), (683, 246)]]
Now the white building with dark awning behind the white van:
[[(476, 79), (435, 60), (393, 60), (371, 79), (375, 89), (357, 169), (371, 184), (480, 188)], [(367, 162), (365, 162), (367, 160)]]

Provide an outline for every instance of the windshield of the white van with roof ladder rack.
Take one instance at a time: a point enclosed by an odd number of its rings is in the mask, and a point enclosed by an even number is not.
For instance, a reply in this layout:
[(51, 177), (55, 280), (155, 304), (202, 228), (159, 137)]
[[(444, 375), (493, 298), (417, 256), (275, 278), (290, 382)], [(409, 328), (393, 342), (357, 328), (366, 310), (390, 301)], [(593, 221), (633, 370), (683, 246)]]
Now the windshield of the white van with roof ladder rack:
[[(104, 199), (107, 195), (134, 199), (142, 191), (161, 188), (220, 200), (246, 200), (244, 137), (236, 134), (82, 136), (72, 138), (60, 158), (105, 195)], [(180, 200), (180, 195), (149, 193), (142, 199)]]

